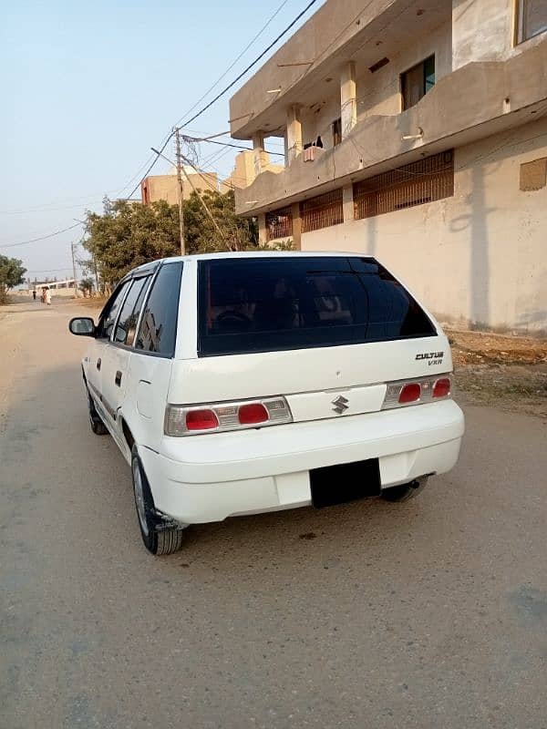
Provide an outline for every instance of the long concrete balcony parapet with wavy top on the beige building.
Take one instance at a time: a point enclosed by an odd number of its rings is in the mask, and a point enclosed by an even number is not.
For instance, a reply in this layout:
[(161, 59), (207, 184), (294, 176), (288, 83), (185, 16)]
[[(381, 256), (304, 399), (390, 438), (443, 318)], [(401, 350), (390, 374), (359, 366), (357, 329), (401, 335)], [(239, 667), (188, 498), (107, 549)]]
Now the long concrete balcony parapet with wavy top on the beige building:
[(236, 211), (251, 216), (275, 210), (519, 126), (541, 113), (546, 78), (545, 37), (508, 60), (460, 67), (440, 78), (416, 106), (359, 121), (335, 148), (317, 150), (313, 161), (304, 162), (300, 154), (281, 172), (262, 172), (236, 190)]

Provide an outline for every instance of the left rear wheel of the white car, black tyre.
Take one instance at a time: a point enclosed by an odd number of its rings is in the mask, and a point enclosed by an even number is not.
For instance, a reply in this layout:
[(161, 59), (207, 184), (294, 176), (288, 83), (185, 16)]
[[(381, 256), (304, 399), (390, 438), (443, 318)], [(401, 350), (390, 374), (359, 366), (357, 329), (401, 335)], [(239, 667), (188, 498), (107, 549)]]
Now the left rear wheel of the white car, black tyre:
[(162, 519), (154, 508), (148, 478), (140, 462), (137, 446), (131, 450), (133, 493), (139, 519), (140, 536), (151, 554), (172, 554), (179, 551), (184, 540), (184, 526)]

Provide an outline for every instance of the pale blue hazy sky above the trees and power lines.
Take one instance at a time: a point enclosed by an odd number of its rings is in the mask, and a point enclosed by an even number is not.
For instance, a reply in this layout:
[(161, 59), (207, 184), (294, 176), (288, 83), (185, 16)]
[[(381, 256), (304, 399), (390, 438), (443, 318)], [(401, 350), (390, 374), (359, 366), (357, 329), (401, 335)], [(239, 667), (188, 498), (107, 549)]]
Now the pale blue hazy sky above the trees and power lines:
[[(317, 2), (294, 29), (323, 2)], [(0, 254), (21, 259), (26, 276), (33, 280), (71, 275), (70, 243), (80, 241), (81, 227), (44, 241), (15, 244), (75, 225), (86, 210), (100, 211), (105, 195), (127, 196), (151, 159), (150, 147), (158, 147), (174, 124), (188, 118), (188, 110), (268, 19), (281, 8), (196, 110), (238, 76), (307, 4), (307, 0), (5, 4), (0, 24)], [(236, 88), (188, 132), (226, 131), (228, 102)], [(170, 147), (168, 151), (172, 155)], [(227, 176), (236, 152), (201, 145), (201, 166)], [(222, 156), (207, 162), (213, 153)], [(151, 174), (169, 167), (160, 160)], [(85, 256), (81, 247), (78, 255)]]

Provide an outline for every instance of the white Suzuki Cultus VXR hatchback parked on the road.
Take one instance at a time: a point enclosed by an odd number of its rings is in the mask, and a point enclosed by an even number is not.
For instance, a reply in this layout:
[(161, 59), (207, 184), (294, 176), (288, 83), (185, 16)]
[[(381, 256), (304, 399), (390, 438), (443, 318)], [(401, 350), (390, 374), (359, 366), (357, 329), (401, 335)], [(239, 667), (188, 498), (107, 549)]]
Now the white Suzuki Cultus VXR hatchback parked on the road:
[(375, 259), (219, 253), (119, 282), (83, 360), (153, 554), (189, 524), (413, 497), (459, 456), (449, 341)]

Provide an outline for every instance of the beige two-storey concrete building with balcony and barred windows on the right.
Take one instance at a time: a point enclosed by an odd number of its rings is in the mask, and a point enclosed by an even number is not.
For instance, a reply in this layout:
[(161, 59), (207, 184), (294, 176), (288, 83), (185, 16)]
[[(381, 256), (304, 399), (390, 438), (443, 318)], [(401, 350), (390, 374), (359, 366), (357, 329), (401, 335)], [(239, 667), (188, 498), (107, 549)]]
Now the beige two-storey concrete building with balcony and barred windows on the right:
[(441, 317), (547, 330), (547, 0), (327, 0), (230, 117), (263, 241), (377, 255)]

